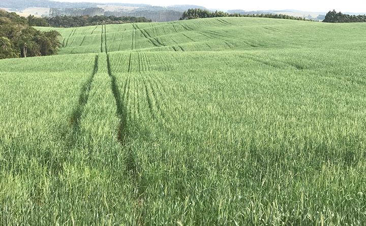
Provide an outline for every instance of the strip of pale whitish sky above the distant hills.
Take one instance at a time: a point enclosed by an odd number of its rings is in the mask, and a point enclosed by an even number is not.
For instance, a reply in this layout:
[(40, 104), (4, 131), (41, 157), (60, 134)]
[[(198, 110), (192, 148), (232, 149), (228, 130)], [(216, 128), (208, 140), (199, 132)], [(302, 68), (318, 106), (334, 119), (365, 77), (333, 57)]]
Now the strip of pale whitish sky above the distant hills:
[(365, 0), (54, 0), (58, 2), (94, 2), (94, 3), (134, 3), (153, 6), (198, 5), (207, 9), (251, 10), (300, 10), (309, 12), (328, 12), (335, 9), (342, 12), (366, 13)]

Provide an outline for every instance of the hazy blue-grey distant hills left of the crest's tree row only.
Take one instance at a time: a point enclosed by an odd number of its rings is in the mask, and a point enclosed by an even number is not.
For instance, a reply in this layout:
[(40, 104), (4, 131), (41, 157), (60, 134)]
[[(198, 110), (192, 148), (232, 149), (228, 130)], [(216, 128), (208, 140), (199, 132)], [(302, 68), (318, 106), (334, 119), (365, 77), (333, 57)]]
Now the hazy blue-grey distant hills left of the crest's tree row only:
[[(81, 1), (81, 0), (80, 0)], [(129, 3), (66, 3), (49, 0), (0, 0), (0, 7), (19, 15), (29, 14), (35, 16), (80, 16), (80, 15), (106, 15), (106, 16), (135, 16), (164, 22), (178, 20), (182, 13), (190, 8), (206, 9), (196, 5), (173, 5), (168, 7), (151, 6), (147, 4)], [(92, 11), (88, 9), (93, 9)]]

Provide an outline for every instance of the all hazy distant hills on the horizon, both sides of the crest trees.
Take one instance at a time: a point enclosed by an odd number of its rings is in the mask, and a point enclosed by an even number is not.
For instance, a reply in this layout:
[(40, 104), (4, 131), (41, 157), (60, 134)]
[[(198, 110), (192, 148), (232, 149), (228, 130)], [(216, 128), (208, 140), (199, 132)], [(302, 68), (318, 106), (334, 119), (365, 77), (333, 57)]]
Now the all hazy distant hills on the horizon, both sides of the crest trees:
[[(80, 0), (83, 1), (83, 0)], [(87, 1), (87, 0), (86, 0)], [(0, 0), (0, 8), (5, 8), (8, 11), (13, 11), (19, 15), (35, 15), (35, 16), (49, 16), (46, 12), (51, 9), (50, 16), (57, 15), (84, 15), (82, 10), (87, 8), (101, 8), (95, 15), (106, 16), (136, 16), (145, 17), (156, 22), (178, 20), (181, 14), (188, 9), (202, 9), (205, 7), (197, 5), (172, 5), (168, 7), (151, 6), (148, 4), (131, 4), (131, 3), (69, 3), (69, 2), (55, 2), (49, 0)], [(46, 9), (46, 10), (45, 10)], [(65, 12), (67, 11), (67, 12)], [(215, 11), (212, 9), (210, 11)], [(55, 13), (58, 12), (58, 13)], [(70, 13), (71, 12), (71, 13)], [(74, 13), (73, 13), (74, 12)], [(261, 11), (245, 11), (241, 9), (228, 10), (228, 13), (234, 14), (284, 14), (295, 17), (303, 17), (312, 20), (323, 20), (326, 12), (307, 12), (299, 10), (261, 10)], [(365, 13), (351, 13), (344, 12), (349, 15), (363, 15)], [(23, 16), (24, 16), (23, 15)], [(93, 14), (94, 15), (94, 14)]]

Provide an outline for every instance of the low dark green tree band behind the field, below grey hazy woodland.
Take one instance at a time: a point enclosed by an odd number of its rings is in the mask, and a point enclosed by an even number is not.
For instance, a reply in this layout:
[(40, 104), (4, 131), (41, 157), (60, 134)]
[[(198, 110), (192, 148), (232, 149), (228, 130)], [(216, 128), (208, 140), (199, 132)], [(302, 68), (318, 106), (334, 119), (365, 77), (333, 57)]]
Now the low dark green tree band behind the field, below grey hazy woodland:
[(53, 27), (81, 27), (99, 24), (151, 22), (151, 20), (147, 20), (144, 17), (132, 16), (55, 16), (46, 17), (45, 20)]

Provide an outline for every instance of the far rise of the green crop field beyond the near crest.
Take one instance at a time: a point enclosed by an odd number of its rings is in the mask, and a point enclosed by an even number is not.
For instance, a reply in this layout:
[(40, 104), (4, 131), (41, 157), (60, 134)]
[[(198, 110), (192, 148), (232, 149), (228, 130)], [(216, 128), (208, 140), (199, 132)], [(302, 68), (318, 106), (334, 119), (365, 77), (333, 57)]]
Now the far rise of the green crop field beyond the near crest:
[[(329, 24), (258, 18), (212, 18), (163, 23), (102, 25), (82, 28), (38, 27), (62, 34), (60, 54), (112, 51), (218, 51), (273, 48), (364, 49), (366, 25)], [(103, 31), (102, 35), (102, 30)], [(345, 41), (347, 40), (347, 41)], [(345, 48), (346, 48), (345, 46)]]

